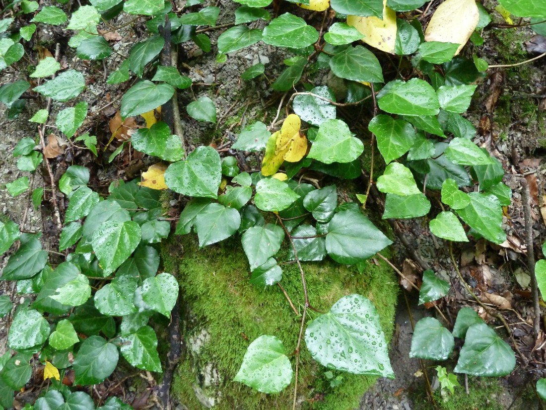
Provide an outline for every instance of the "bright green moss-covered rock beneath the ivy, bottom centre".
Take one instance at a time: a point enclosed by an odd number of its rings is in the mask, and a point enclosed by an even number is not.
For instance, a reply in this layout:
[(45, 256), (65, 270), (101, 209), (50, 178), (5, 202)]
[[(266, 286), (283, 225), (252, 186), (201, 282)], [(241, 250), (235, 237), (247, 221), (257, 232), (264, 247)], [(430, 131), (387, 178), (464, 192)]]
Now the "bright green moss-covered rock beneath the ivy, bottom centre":
[[(193, 235), (174, 236), (162, 248), (165, 270), (178, 273), (183, 301), (181, 329), (186, 352), (171, 394), (189, 410), (291, 409), (294, 382), (280, 394), (266, 395), (234, 382), (248, 345), (260, 335), (281, 339), (294, 367), (300, 317), (279, 286), (248, 282), (248, 261), (239, 241), (229, 239), (199, 250)], [(282, 260), (282, 258), (280, 258)], [(390, 267), (370, 260), (362, 274), (331, 260), (303, 264), (310, 303), (328, 311), (339, 298), (358, 293), (375, 304), (389, 341), (393, 332), (398, 286)], [(300, 272), (282, 265), (282, 285), (296, 309), (304, 303)], [(317, 317), (308, 310), (307, 320)], [(342, 384), (330, 388), (327, 368), (311, 358), (302, 342), (298, 375), (298, 408), (357, 408), (375, 377), (334, 372)], [(204, 406), (202, 403), (206, 403)]]

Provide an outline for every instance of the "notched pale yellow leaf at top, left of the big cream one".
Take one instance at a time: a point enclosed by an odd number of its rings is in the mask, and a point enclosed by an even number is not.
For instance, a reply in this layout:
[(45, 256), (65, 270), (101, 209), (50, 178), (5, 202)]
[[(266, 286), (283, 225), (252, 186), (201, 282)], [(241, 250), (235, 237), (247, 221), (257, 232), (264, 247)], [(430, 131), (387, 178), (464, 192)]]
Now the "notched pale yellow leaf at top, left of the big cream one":
[(381, 51), (394, 54), (396, 42), (396, 13), (383, 0), (383, 20), (378, 17), (347, 16), (347, 24), (354, 26), (364, 38), (362, 41)]

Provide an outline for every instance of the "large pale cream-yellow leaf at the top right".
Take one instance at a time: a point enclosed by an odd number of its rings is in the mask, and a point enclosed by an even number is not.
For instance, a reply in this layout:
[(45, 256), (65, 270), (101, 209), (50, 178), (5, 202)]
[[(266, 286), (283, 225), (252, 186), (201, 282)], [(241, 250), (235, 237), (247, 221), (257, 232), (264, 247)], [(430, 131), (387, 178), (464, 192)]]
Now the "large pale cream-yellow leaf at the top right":
[(459, 54), (478, 25), (474, 0), (446, 0), (438, 6), (425, 31), (425, 41), (460, 44)]

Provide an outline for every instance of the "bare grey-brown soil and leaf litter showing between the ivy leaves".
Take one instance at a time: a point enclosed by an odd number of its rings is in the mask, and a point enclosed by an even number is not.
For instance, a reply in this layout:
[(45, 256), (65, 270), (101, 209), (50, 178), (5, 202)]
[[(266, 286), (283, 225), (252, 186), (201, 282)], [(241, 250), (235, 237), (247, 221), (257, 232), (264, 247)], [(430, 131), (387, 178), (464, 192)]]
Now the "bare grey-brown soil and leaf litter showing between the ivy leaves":
[[(219, 3), (223, 11), (217, 24), (221, 25), (233, 21), (231, 15), (234, 7), (233, 2), (221, 1)], [(114, 25), (120, 26), (126, 20), (115, 21)], [(263, 21), (254, 24), (256, 28), (263, 28), (264, 26), (265, 22)], [(39, 25), (38, 29), (44, 30), (43, 25)], [(221, 30), (217, 30), (207, 33), (211, 36), (212, 44), (216, 43), (216, 39), (221, 32)], [(116, 50), (122, 55), (127, 55), (130, 44), (134, 42), (134, 39), (126, 37), (129, 33), (133, 34), (130, 27), (120, 30), (120, 35), (124, 40), (117, 44)], [(486, 46), (476, 48), (478, 56), (486, 58), (490, 63), (501, 64), (507, 62), (507, 60), (508, 62), (515, 62), (512, 60), (513, 56), (517, 56), (518, 61), (529, 58), (529, 54), (523, 49), (523, 42), (530, 39), (532, 33), (529, 30), (523, 31), (523, 34), (519, 33), (520, 31), (518, 34), (514, 34), (514, 36), (519, 37), (509, 38), (506, 37), (506, 33), (502, 35), (505, 37), (502, 37), (485, 32)], [(39, 35), (43, 41), (49, 40), (51, 44), (62, 40), (58, 37), (58, 33), (54, 32), (43, 31)], [(50, 49), (53, 53), (55, 52), (54, 46), (51, 46)], [(75, 59), (73, 49), (67, 48), (64, 51), (66, 55), (63, 58), (66, 58), (67, 61)], [(268, 67), (266, 72), (268, 77), (274, 79), (280, 72), (282, 59), (286, 58), (287, 55), (278, 54), (276, 50), (271, 50), (263, 43), (258, 43), (235, 52), (233, 55), (230, 54), (227, 62), (220, 64), (215, 63), (215, 59), (211, 57), (212, 52), (203, 54), (192, 42), (183, 45), (183, 51), (180, 52), (180, 55), (183, 67), (185, 67), (181, 69), (182, 74), (189, 75), (194, 83), (201, 83), (201, 85), (194, 86), (189, 92), (179, 92), (180, 106), (184, 107), (194, 98), (208, 95), (213, 98), (218, 110), (216, 125), (206, 125), (195, 121), (186, 115), (185, 110), (182, 110), (182, 121), (185, 128), (184, 138), (189, 147), (195, 147), (199, 144), (213, 144), (216, 147), (228, 146), (230, 136), (236, 134), (245, 124), (250, 124), (253, 121), (263, 121), (269, 125), (274, 122), (277, 106), (282, 95), (272, 91), (262, 80), (244, 83), (240, 80), (240, 73), (257, 62), (262, 62)], [(32, 61), (27, 63), (37, 62), (37, 55), (34, 51), (31, 53), (31, 58)], [(88, 66), (93, 66), (98, 71), (106, 69), (108, 73), (117, 68), (102, 67), (102, 65), (96, 65), (96, 63), (81, 63), (81, 69), (88, 69)], [(20, 69), (22, 69), (22, 64), (4, 70), (0, 85), (19, 78), (24, 79), (27, 73), (24, 70), (19, 71)], [(108, 73), (105, 72), (104, 74)], [(511, 376), (501, 378), (501, 392), (492, 393), (491, 397), (494, 398), (498, 407), (488, 407), (490, 403), (475, 403), (475, 408), (526, 408), (529, 410), (541, 408), (537, 397), (532, 394), (532, 391), (534, 389), (533, 383), (538, 378), (546, 377), (544, 347), (541, 346), (535, 352), (532, 352), (534, 341), (530, 340), (532, 330), (530, 330), (529, 323), (532, 309), (530, 307), (529, 291), (526, 286), (518, 283), (516, 274), (527, 272), (526, 257), (521, 251), (521, 245), (524, 244), (523, 208), (520, 195), (521, 178), (527, 180), (531, 189), (536, 255), (539, 255), (539, 245), (542, 244), (542, 238), (546, 235), (546, 220), (541, 215), (543, 210), (541, 207), (544, 202), (543, 175), (545, 173), (541, 157), (546, 149), (545, 76), (544, 66), (540, 60), (518, 68), (491, 70), (488, 72), (488, 76), (480, 81), (476, 93), (477, 98), (474, 99), (468, 112), (468, 118), (480, 131), (475, 141), (502, 161), (507, 173), (505, 183), (513, 189), (512, 204), (506, 208), (505, 212), (505, 228), (513, 243), (507, 245), (507, 247), (497, 247), (478, 241), (466, 247), (454, 246), (453, 253), (462, 275), (474, 289), (482, 289), (485, 292), (498, 295), (505, 295), (506, 291), (511, 291), (511, 307), (513, 310), (502, 311), (501, 313), (510, 324), (515, 341), (524, 356), (523, 358), (518, 357), (517, 367)], [(315, 85), (324, 85), (328, 81), (327, 71), (324, 71), (322, 75), (314, 75), (313, 78), (317, 79)], [(100, 76), (98, 79), (100, 79)], [(82, 94), (82, 97), (90, 102), (90, 113), (96, 113), (100, 108), (120, 96), (124, 87), (126, 86), (108, 86), (105, 84), (104, 79), (100, 79), (100, 81), (92, 85), (93, 94), (86, 92)], [(491, 96), (497, 91), (500, 96), (495, 104), (491, 104)], [(99, 96), (100, 99), (94, 95)], [(12, 155), (16, 143), (21, 138), (35, 137), (36, 135), (35, 127), (27, 120), (35, 111), (43, 108), (40, 104), (44, 103), (44, 101), (38, 104), (39, 99), (35, 99), (35, 95), (31, 95), (31, 97), (19, 118), (13, 121), (3, 120), (0, 124), (2, 129), (2, 132), (0, 132), (0, 186), (4, 186), (4, 184), (22, 175), (28, 175), (31, 177), (31, 187), (45, 187), (46, 200), (42, 202), (38, 210), (35, 210), (28, 192), (17, 197), (11, 197), (6, 190), (0, 190), (0, 208), (3, 214), (21, 226), (22, 231), (44, 232), (44, 248), (56, 250), (57, 232), (55, 231), (55, 224), (52, 222), (48, 172), (44, 165), (41, 165), (34, 175), (20, 172), (16, 167), (16, 159)], [(66, 169), (72, 163), (91, 167), (91, 183), (102, 185), (103, 189), (112, 179), (118, 177), (128, 178), (126, 168), (134, 165), (135, 159), (130, 157), (127, 151), (118, 157), (113, 165), (109, 165), (105, 160), (120, 144), (120, 142), (114, 141), (106, 151), (103, 151), (110, 137), (108, 134), (108, 121), (115, 114), (115, 109), (112, 107), (118, 107), (118, 103), (101, 110), (99, 114), (94, 116), (93, 124), (87, 124), (87, 127), (96, 133), (99, 139), (102, 148), (99, 159), (95, 160), (90, 152), (86, 150), (74, 147), (67, 150), (67, 154), (64, 156), (51, 160), (56, 181), (60, 178), (63, 169)], [(3, 110), (5, 107), (2, 106), (1, 108)], [(54, 104), (52, 112), (55, 112), (55, 109)], [(281, 113), (280, 118), (283, 118), (283, 113)], [(52, 124), (52, 122), (50, 123)], [(253, 166), (253, 159), (253, 155), (247, 157), (249, 167)], [(256, 164), (256, 161), (254, 161), (254, 164)], [(140, 168), (137, 168), (137, 171), (138, 169)], [(58, 196), (57, 199), (62, 208), (64, 201), (62, 195)], [(408, 238), (411, 238), (410, 244), (413, 251), (422, 256), (440, 277), (449, 280), (451, 283), (452, 291), (440, 303), (439, 307), (448, 318), (454, 320), (460, 307), (476, 307), (476, 304), (472, 302), (470, 295), (467, 294), (460, 283), (450, 257), (449, 245), (441, 241), (441, 239), (433, 237), (428, 232), (427, 226), (428, 224), (424, 219), (400, 223), (402, 232)], [(395, 249), (397, 255), (394, 263), (396, 266), (402, 267), (406, 258), (411, 259), (412, 255), (400, 241), (395, 244)], [(13, 251), (12, 248), (2, 256), (0, 267), (5, 266), (9, 255)], [(416, 270), (416, 274), (419, 275), (419, 269)], [(418, 281), (418, 279), (416, 280)], [(406, 292), (406, 290), (402, 289), (401, 292)], [(15, 303), (21, 302), (23, 297), (23, 295), (18, 295), (14, 285), (8, 282), (0, 282), (0, 294), (9, 294)], [(416, 323), (425, 316), (434, 316), (436, 312), (434, 309), (418, 306), (416, 300), (415, 291), (413, 294), (408, 292), (406, 295), (401, 294), (400, 296), (395, 321), (395, 336), (390, 346), (390, 359), (396, 379), (378, 380), (377, 384), (363, 396), (360, 407), (362, 410), (427, 408), (426, 405), (423, 407), (422, 404), (423, 392), (425, 391), (423, 364), (418, 359), (411, 359), (409, 352), (413, 334), (412, 323)], [(488, 317), (485, 312), (479, 313), (491, 325), (498, 325), (494, 318)], [(11, 315), (0, 319), (0, 354), (7, 348), (7, 329), (11, 319)], [(544, 336), (542, 335), (542, 337)], [(508, 337), (505, 337), (505, 339), (508, 340)], [(526, 363), (529, 359), (529, 363)], [(433, 389), (437, 389), (438, 385), (434, 377), (436, 374), (434, 367), (436, 365), (427, 362), (424, 369), (429, 373)], [(442, 362), (442, 365), (453, 368), (453, 364), (448, 363), (446, 365), (445, 362)], [(461, 384), (464, 384), (462, 377), (459, 376), (459, 378)], [(129, 380), (138, 385), (134, 379)], [(140, 399), (140, 402), (146, 402), (147, 396), (139, 396), (139, 394), (143, 394), (143, 391), (145, 392), (146, 383), (149, 383), (149, 380), (145, 381), (144, 388), (137, 388), (136, 393), (129, 397)], [(494, 384), (494, 382), (491, 382), (491, 384)], [(488, 385), (485, 388), (488, 388)], [(464, 390), (464, 388), (460, 389)], [(531, 394), (529, 394), (529, 391), (531, 391)], [(526, 399), (526, 397), (529, 397), (529, 399)], [(183, 408), (183, 403), (180, 404), (180, 408)]]

